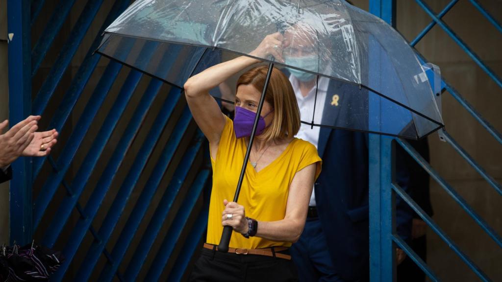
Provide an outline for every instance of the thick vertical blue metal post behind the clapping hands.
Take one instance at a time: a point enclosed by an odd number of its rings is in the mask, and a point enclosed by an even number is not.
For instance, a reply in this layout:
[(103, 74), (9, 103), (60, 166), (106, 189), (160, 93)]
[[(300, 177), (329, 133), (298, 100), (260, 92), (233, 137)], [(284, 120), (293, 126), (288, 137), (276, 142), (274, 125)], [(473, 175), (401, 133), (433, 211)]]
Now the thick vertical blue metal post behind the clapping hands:
[[(7, 2), (9, 42), (9, 121), (10, 126), (31, 114), (31, 15), (30, 0)], [(20, 158), (14, 164), (11, 181), (11, 242), (31, 241), (32, 170), (31, 159)], [(16, 215), (13, 217), (12, 215)]]

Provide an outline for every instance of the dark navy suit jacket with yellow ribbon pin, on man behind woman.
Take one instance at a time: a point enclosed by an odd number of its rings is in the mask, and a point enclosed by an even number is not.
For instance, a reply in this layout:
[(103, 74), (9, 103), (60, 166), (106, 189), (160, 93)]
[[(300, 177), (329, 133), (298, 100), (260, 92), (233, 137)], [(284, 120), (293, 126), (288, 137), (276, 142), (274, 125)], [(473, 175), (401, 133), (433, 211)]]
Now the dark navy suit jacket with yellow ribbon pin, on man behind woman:
[[(286, 75), (289, 77), (289, 73)], [(335, 94), (338, 95), (337, 106), (332, 104)], [(367, 116), (354, 117), (355, 109), (364, 113), (367, 93), (359, 91), (358, 86), (331, 80), (323, 123), (367, 128)], [(369, 280), (368, 134), (321, 127), (318, 153), (323, 163), (314, 185), (316, 205), (335, 270), (345, 280)], [(409, 173), (403, 164), (404, 156), (396, 157), (398, 183), (408, 190)], [(412, 210), (396, 198), (397, 233), (408, 240)]]

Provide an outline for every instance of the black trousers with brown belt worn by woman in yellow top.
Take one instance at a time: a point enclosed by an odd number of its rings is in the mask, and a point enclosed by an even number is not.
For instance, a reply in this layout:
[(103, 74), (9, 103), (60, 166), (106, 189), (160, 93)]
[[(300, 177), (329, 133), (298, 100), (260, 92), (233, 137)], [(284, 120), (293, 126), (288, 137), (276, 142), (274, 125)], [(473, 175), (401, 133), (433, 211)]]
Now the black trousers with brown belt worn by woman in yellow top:
[(202, 249), (189, 281), (298, 281), (291, 260)]

